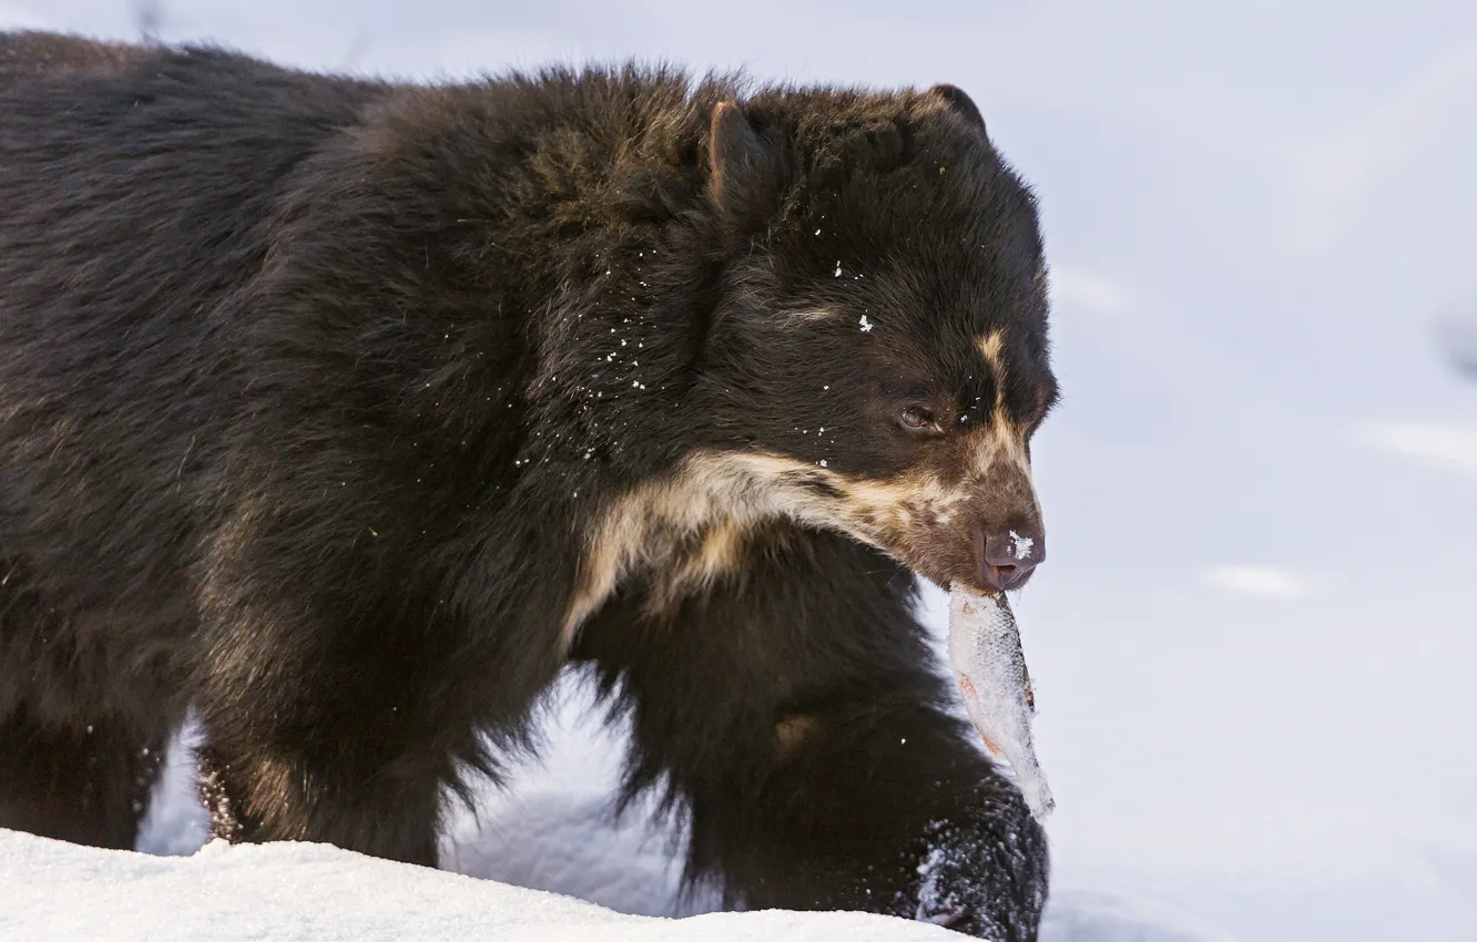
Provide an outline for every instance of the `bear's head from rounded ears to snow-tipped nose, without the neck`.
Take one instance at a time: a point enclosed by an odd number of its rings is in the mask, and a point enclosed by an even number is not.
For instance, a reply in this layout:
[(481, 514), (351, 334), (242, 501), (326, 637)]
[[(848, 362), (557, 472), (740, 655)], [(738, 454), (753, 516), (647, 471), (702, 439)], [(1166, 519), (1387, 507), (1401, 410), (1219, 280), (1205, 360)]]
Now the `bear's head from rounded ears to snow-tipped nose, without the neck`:
[(731, 261), (705, 363), (709, 472), (944, 586), (1044, 558), (1031, 436), (1056, 400), (1035, 202), (969, 97), (719, 103)]

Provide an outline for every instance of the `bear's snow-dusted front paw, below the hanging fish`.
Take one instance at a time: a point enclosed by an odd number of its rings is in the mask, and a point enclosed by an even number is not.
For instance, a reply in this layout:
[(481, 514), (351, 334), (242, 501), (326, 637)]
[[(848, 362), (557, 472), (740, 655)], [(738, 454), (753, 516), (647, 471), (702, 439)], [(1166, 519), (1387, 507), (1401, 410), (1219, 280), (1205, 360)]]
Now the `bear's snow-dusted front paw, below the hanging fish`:
[[(703, 815), (730, 892), (752, 907), (871, 910), (1035, 939), (1044, 834), (951, 721), (907, 703), (919, 692), (780, 721), (787, 741), (758, 763), (755, 787)], [(738, 806), (749, 827), (725, 819)]]

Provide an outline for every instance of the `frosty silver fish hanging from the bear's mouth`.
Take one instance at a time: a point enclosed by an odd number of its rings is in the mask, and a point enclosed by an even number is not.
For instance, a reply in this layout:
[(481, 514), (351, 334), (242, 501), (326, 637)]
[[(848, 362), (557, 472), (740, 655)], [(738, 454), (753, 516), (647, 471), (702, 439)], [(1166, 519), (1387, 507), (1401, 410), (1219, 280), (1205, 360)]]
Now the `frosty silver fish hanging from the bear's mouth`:
[(1004, 756), (1031, 815), (1044, 821), (1056, 799), (1035, 757), (1031, 738), (1035, 691), (1004, 592), (979, 595), (959, 586), (950, 591), (948, 659), (964, 710), (985, 747), (993, 756)]

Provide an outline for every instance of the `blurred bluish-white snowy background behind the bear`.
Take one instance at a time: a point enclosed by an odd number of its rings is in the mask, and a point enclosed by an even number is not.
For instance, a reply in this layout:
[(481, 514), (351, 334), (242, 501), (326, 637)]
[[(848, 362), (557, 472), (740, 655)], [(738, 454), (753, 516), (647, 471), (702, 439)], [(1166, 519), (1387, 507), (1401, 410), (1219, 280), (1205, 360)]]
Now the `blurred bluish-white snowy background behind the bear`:
[[(1477, 4), (0, 0), (142, 21), (406, 78), (635, 55), (964, 87), (1053, 261), (1052, 560), (1018, 605), (1047, 938), (1477, 938)], [(620, 744), (569, 692), (448, 867), (702, 910), (659, 828), (607, 821)], [(170, 788), (142, 849), (201, 840)]]

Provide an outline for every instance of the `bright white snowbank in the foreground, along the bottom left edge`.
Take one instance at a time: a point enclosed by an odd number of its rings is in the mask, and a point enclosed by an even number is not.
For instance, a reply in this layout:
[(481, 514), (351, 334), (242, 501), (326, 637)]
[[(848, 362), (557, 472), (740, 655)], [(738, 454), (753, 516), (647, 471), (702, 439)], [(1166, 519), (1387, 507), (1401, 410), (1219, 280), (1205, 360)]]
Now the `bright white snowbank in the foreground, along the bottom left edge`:
[[(80, 892), (81, 884), (86, 892)], [(622, 915), (555, 893), (380, 861), (306, 843), (227, 846), (193, 856), (77, 848), (0, 831), (0, 938), (149, 942), (499, 939), (545, 942), (770, 942), (944, 939), (948, 933), (858, 912)]]

